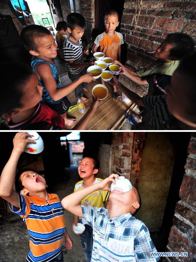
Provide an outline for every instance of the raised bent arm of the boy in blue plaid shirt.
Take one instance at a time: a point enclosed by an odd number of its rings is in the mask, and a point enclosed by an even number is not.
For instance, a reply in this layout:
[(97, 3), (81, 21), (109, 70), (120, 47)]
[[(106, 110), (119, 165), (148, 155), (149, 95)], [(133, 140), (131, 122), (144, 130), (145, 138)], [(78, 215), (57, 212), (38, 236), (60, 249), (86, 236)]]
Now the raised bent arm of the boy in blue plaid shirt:
[(83, 198), (91, 194), (92, 192), (95, 192), (97, 190), (107, 190), (110, 191), (109, 184), (112, 182), (115, 184), (114, 178), (119, 178), (118, 175), (116, 174), (111, 174), (108, 178), (102, 180), (99, 183), (96, 183), (90, 187), (86, 187), (84, 189), (78, 190), (72, 194), (70, 194), (67, 197), (64, 197), (62, 199), (61, 203), (62, 206), (67, 209), (69, 212), (72, 214), (78, 216), (78, 217), (83, 217), (82, 213), (82, 207), (80, 205), (81, 201)]

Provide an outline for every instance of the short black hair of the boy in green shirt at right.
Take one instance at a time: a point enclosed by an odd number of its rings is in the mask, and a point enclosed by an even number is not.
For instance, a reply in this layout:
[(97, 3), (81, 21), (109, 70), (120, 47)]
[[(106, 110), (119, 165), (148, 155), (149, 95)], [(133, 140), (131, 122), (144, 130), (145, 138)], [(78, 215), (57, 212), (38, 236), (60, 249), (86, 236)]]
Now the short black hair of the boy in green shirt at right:
[(185, 33), (171, 33), (165, 39), (174, 47), (170, 50), (170, 56), (178, 60), (191, 54), (195, 49), (195, 42), (191, 36)]

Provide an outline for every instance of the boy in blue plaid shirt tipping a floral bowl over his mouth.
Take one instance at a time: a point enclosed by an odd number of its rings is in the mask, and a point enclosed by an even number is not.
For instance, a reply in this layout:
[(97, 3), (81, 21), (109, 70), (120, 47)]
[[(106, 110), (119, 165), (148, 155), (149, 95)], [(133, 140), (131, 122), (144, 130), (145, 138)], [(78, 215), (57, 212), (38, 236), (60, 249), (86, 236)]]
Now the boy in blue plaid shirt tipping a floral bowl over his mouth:
[(96, 190), (110, 191), (109, 184), (115, 184), (112, 174), (108, 178), (65, 197), (62, 206), (80, 217), (82, 224), (93, 229), (93, 252), (91, 261), (159, 261), (159, 256), (150, 256), (156, 248), (145, 224), (136, 219), (141, 206), (139, 192), (132, 187), (126, 193), (114, 190), (110, 193), (109, 210), (95, 206), (81, 205), (81, 200)]

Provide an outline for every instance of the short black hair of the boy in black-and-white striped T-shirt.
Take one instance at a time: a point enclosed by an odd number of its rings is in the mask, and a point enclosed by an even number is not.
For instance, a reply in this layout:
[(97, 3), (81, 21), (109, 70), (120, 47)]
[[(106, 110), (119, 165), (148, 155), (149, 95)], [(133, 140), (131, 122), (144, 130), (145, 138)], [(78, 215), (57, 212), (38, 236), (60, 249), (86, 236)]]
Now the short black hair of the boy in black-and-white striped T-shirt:
[(67, 16), (67, 27), (69, 27), (71, 30), (74, 30), (76, 27), (85, 29), (85, 18), (79, 13), (70, 13)]

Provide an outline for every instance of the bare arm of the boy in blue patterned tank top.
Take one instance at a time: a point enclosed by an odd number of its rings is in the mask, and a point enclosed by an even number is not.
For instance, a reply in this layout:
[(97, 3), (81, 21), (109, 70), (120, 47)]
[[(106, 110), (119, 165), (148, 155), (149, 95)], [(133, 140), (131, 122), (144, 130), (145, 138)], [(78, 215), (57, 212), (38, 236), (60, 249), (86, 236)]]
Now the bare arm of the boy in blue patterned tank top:
[(73, 91), (79, 84), (83, 82), (90, 83), (91, 81), (96, 80), (90, 73), (88, 73), (79, 77), (77, 80), (75, 80), (71, 84), (68, 84), (67, 86), (57, 88), (57, 84), (52, 75), (51, 68), (47, 63), (41, 63), (40, 65), (38, 65), (36, 67), (36, 71), (38, 73), (38, 76), (40, 76), (41, 80), (43, 81), (43, 84), (46, 87), (46, 90), (48, 91), (50, 97), (54, 101), (57, 101), (71, 93), (71, 91)]

